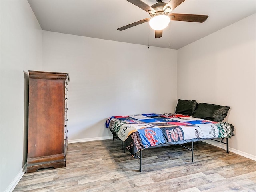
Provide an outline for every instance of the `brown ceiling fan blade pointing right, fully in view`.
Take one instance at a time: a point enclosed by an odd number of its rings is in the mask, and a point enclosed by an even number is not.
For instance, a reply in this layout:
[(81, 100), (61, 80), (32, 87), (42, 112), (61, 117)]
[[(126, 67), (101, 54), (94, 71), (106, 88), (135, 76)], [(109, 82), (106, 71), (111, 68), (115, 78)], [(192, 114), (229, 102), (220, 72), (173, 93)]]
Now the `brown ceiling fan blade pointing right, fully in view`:
[(188, 22), (198, 22), (203, 23), (208, 18), (208, 15), (194, 15), (194, 14), (181, 14), (181, 13), (171, 13), (170, 19), (172, 21), (188, 21)]

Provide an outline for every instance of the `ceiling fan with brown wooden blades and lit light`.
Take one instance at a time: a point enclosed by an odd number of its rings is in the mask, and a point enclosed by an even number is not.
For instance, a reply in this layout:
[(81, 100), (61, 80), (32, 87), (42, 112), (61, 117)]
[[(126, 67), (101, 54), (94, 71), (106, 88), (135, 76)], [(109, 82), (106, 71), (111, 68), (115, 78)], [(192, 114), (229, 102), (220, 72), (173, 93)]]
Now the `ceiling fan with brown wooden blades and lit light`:
[(168, 26), (170, 20), (202, 23), (208, 18), (208, 15), (171, 13), (185, 0), (170, 0), (168, 3), (162, 2), (163, 0), (156, 0), (157, 3), (152, 6), (149, 6), (141, 0), (127, 1), (148, 12), (152, 18), (142, 19), (140, 21), (120, 27), (117, 29), (119, 31), (149, 21), (150, 27), (155, 30), (155, 38), (160, 38), (163, 36), (163, 29)]

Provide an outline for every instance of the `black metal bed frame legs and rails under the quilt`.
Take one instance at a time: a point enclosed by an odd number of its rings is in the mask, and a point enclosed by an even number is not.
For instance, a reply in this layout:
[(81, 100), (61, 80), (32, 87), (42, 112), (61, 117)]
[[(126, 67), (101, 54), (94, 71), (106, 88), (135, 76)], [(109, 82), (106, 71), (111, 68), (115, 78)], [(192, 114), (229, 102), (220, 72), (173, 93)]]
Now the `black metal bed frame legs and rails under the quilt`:
[[(233, 136), (233, 134), (232, 134)], [(229, 145), (228, 145), (228, 138), (226, 138), (226, 142), (223, 142), (224, 138), (222, 138), (221, 141), (219, 140), (216, 140), (216, 139), (200, 139), (198, 141), (204, 141), (204, 140), (214, 140), (216, 142), (220, 142), (220, 143), (223, 143), (223, 144), (226, 144), (226, 153), (229, 153)], [(114, 141), (114, 134), (113, 134), (113, 141)], [(194, 141), (194, 142), (198, 142), (198, 141)], [(121, 140), (122, 142), (122, 147), (121, 147), (121, 150), (123, 150), (123, 152), (125, 153), (125, 147), (124, 147), (124, 142)], [(190, 150), (191, 151), (191, 162), (193, 162), (193, 152), (194, 152), (194, 142), (191, 142), (191, 148), (188, 148), (182, 144), (178, 144), (184, 148), (186, 148), (187, 150)], [(150, 146), (148, 148), (157, 148), (157, 147), (164, 147), (164, 146), (171, 146), (171, 145), (176, 145), (176, 144), (161, 144), (161, 145), (156, 145), (156, 146)], [(147, 149), (148, 149), (147, 148)], [(142, 150), (140, 150), (140, 154), (138, 155), (138, 153), (136, 153), (136, 157), (139, 159), (139, 162), (140, 162), (140, 168), (139, 168), (139, 171), (141, 172), (141, 166), (142, 166), (142, 163), (141, 163), (141, 160), (142, 160)]]

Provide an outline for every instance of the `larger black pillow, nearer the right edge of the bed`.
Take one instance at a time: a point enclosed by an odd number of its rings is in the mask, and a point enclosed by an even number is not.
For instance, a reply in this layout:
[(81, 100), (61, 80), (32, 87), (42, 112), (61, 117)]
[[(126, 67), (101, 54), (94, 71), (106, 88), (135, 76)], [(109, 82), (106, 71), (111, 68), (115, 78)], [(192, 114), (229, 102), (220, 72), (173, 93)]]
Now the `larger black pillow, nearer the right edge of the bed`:
[(192, 116), (196, 118), (220, 122), (224, 120), (224, 118), (227, 116), (229, 109), (230, 107), (227, 106), (199, 103)]

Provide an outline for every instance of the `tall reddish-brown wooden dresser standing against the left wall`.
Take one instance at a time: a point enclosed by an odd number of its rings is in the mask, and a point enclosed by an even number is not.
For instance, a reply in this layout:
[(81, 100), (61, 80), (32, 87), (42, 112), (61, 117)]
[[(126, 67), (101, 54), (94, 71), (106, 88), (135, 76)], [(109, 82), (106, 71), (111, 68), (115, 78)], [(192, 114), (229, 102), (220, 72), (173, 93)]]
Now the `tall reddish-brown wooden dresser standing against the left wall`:
[(27, 173), (66, 166), (69, 74), (29, 71)]

